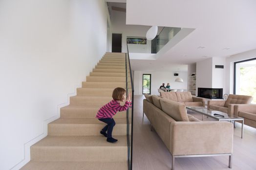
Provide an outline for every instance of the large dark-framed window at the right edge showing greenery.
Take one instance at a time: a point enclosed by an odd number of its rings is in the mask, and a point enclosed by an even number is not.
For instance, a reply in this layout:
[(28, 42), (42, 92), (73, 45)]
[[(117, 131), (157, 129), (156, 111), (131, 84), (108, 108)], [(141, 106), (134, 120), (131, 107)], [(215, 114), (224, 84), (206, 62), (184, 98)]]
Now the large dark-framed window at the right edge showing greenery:
[(234, 63), (234, 94), (253, 96), (256, 103), (256, 58)]

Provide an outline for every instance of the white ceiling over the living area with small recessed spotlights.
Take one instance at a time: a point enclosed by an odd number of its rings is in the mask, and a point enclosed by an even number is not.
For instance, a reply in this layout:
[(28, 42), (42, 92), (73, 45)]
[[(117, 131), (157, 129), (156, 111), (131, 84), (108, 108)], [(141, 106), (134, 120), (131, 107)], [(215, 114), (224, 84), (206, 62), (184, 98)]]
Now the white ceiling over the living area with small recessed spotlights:
[(190, 64), (256, 49), (256, 0), (127, 0), (126, 23), (195, 29), (159, 63)]

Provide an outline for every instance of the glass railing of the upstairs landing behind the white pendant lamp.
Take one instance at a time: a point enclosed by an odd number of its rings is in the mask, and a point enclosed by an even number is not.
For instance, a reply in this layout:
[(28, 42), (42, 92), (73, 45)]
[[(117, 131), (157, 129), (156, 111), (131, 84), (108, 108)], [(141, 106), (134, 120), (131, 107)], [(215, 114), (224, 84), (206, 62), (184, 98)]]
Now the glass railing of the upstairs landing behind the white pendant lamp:
[(146, 37), (128, 36), (127, 46), (130, 53), (154, 54), (160, 51), (180, 30), (181, 28), (176, 27), (163, 27), (151, 41)]

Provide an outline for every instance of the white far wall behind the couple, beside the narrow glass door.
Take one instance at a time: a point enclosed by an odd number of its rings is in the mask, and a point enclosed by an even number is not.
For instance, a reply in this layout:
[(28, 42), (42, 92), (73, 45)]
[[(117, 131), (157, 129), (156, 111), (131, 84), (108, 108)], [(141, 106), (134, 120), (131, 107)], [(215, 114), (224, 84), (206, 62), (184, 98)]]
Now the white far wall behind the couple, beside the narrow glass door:
[[(172, 89), (187, 89), (188, 73), (178, 72), (179, 76), (174, 76), (170, 71), (134, 71), (134, 94), (142, 95), (142, 75), (151, 74), (151, 94), (159, 95), (158, 88), (162, 83), (170, 83)], [(175, 82), (180, 77), (184, 82)]]

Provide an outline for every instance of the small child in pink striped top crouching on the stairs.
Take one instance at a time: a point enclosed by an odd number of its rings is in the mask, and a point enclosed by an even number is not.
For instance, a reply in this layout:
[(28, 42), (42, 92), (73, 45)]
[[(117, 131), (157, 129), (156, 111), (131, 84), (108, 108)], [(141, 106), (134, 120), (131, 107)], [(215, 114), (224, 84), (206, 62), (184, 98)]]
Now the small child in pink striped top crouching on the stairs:
[(100, 133), (107, 137), (107, 142), (111, 143), (117, 141), (117, 139), (112, 137), (112, 130), (115, 126), (115, 120), (113, 119), (113, 116), (117, 113), (117, 111), (121, 112), (127, 110), (128, 107), (131, 106), (130, 93), (128, 95), (127, 101), (125, 102), (125, 105), (120, 105), (120, 102), (124, 102), (126, 99), (126, 90), (124, 88), (115, 88), (112, 93), (112, 98), (113, 100), (102, 106), (96, 115), (97, 119), (107, 123), (107, 125), (101, 130)]

